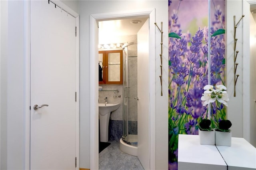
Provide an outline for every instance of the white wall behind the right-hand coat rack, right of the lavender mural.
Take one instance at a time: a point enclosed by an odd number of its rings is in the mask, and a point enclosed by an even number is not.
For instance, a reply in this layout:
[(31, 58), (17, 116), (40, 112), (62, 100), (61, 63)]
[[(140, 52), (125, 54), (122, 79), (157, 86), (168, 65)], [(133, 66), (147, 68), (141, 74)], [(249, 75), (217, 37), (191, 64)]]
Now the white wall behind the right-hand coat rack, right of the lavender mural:
[(236, 62), (239, 63), (236, 74), (239, 74), (236, 83), (236, 97), (234, 97), (234, 19), (236, 16), (236, 23), (242, 16), (242, 0), (228, 0), (226, 1), (226, 78), (227, 88), (230, 101), (228, 102), (228, 119), (232, 122), (232, 136), (242, 137), (243, 133), (243, 101), (242, 101), (242, 21), (236, 29), (236, 50), (239, 51)]

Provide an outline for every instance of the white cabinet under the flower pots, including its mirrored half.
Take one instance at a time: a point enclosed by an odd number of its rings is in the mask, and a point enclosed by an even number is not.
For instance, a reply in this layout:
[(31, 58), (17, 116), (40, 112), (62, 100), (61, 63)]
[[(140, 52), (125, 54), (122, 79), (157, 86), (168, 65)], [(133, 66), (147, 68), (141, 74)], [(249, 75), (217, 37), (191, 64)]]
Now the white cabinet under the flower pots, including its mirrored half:
[(232, 137), (231, 146), (200, 144), (198, 135), (179, 134), (179, 170), (256, 170), (256, 148)]

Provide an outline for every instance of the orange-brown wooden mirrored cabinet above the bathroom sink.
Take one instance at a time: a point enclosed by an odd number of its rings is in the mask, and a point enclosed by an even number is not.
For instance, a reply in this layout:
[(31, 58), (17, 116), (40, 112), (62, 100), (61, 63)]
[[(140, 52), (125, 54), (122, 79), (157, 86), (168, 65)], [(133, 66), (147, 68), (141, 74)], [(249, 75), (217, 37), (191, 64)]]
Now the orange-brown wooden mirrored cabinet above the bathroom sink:
[(99, 51), (99, 84), (123, 83), (123, 50)]

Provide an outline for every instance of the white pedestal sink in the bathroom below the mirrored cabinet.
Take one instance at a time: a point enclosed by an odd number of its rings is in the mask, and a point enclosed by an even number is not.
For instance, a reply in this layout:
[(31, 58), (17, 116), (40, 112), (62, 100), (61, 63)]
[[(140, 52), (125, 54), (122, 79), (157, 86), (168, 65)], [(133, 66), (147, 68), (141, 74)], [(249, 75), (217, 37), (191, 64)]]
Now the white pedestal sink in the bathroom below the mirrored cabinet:
[(120, 103), (98, 103), (100, 116), (100, 142), (108, 142), (108, 123), (110, 113), (120, 107)]

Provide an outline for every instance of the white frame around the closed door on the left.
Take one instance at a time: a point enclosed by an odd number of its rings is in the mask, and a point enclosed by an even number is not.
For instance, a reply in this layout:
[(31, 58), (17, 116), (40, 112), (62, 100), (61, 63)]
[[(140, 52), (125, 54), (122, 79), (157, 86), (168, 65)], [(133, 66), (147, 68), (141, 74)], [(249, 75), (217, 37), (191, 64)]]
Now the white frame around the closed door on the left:
[[(77, 160), (77, 167), (76, 170), (79, 170), (79, 15), (74, 12), (71, 8), (66, 6), (60, 0), (51, 0), (56, 5), (61, 6), (62, 9), (68, 11), (70, 14), (76, 17), (76, 27), (77, 27), (77, 36), (76, 36), (76, 94), (77, 94), (77, 101), (76, 101), (76, 160)], [(24, 77), (25, 77), (25, 148), (24, 148), (24, 169), (30, 169), (30, 0), (24, 1), (24, 25), (25, 25), (25, 32), (24, 32)]]

